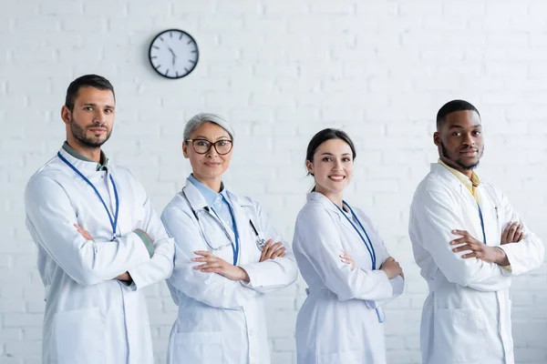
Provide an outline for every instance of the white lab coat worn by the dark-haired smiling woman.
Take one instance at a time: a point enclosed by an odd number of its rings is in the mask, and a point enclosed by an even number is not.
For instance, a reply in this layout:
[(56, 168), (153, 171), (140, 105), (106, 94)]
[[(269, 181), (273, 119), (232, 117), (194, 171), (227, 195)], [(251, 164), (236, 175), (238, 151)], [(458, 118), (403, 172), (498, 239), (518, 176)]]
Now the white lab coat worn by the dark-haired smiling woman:
[[(294, 257), (309, 287), (296, 320), (298, 364), (386, 363), (375, 308), (400, 296), (404, 279), (379, 270), (386, 247), (370, 219), (353, 209), (376, 250), (377, 270), (354, 227), (324, 195), (310, 193), (296, 218)], [(340, 260), (343, 250), (356, 263), (353, 271)]]

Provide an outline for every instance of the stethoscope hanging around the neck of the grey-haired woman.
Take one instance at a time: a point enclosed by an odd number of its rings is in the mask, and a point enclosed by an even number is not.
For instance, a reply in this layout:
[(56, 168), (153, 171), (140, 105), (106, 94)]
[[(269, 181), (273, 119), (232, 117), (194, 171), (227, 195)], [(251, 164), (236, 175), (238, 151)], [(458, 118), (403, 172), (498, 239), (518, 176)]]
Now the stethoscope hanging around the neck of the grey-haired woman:
[[(232, 236), (228, 232), (228, 228), (224, 225), (224, 222), (222, 221), (222, 218), (220, 218), (218, 216), (218, 214), (212, 209), (212, 207), (203, 207), (203, 208), (200, 208), (199, 210), (195, 210), (191, 206), (190, 199), (188, 198), (188, 196), (186, 196), (186, 191), (184, 190), (184, 188), (182, 189), (182, 195), (184, 196), (184, 198), (186, 198), (186, 201), (188, 201), (188, 204), (191, 207), (191, 212), (193, 213), (193, 216), (196, 217), (196, 220), (198, 221), (198, 224), (200, 225), (201, 236), (203, 237), (203, 240), (205, 240), (205, 243), (207, 244), (207, 246), (209, 248), (211, 248), (212, 250), (214, 250), (214, 251), (222, 250), (223, 248), (227, 248), (227, 247), (232, 247), (232, 249), (234, 249), (235, 248), (234, 243), (232, 242)], [(230, 203), (228, 203), (228, 206), (230, 207), (230, 214), (232, 215), (232, 219), (233, 219), (233, 221), (235, 221), (235, 215), (233, 213), (232, 206), (230, 205)], [(201, 220), (200, 220), (199, 215), (200, 215), (200, 213), (203, 213), (204, 211), (209, 217), (212, 217), (212, 219), (219, 225), (219, 227), (222, 228), (222, 232), (224, 233), (224, 235), (226, 236), (226, 238), (229, 241), (228, 243), (223, 244), (223, 245), (218, 246), (218, 247), (213, 247), (212, 246), (212, 244), (210, 243), (210, 239), (209, 239), (209, 236), (207, 234), (207, 231), (201, 226)], [(260, 237), (260, 234), (258, 233), (258, 230), (254, 226), (252, 219), (249, 219), (249, 224), (253, 228), (254, 241), (256, 243), (256, 248), (258, 248), (260, 251), (262, 251), (263, 248), (266, 246), (266, 241), (263, 238)], [(235, 226), (235, 225), (234, 225), (233, 235), (234, 235), (235, 240), (236, 240), (235, 244), (237, 245), (237, 249), (234, 250), (234, 258), (233, 258), (233, 262), (234, 262), (233, 265), (235, 266), (236, 263), (237, 263), (237, 258), (239, 256), (239, 232), (238, 232), (237, 226)]]

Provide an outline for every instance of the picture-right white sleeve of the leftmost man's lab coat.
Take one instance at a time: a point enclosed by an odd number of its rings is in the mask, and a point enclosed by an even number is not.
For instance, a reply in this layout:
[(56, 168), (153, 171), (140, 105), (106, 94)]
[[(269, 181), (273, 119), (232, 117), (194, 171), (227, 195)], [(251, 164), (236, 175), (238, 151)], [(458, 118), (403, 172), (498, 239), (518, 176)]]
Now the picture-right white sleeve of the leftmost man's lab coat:
[(129, 269), (129, 275), (133, 279), (135, 288), (137, 289), (169, 278), (173, 271), (173, 258), (175, 254), (173, 239), (167, 235), (165, 227), (163, 227), (160, 217), (152, 207), (150, 198), (146, 196), (146, 193), (142, 208), (144, 208), (144, 220), (142, 221), (142, 225), (136, 228), (146, 231), (153, 240), (154, 255), (147, 263)]

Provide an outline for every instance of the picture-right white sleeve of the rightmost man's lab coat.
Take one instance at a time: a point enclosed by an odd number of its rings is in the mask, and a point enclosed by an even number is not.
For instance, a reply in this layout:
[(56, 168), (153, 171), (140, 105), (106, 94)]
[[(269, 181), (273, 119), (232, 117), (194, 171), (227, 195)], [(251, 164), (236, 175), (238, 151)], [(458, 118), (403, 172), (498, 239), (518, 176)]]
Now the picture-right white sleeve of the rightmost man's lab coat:
[[(505, 227), (507, 223), (511, 221), (519, 221), (524, 223), (521, 217), (511, 206), (509, 199), (501, 195), (501, 208), (504, 211), (503, 217), (505, 218), (502, 227)], [(524, 225), (524, 238), (518, 243), (504, 244), (500, 248), (505, 251), (509, 263), (511, 264), (511, 273), (518, 276), (522, 273), (526, 273), (532, 269), (539, 268), (543, 263), (545, 255), (545, 248), (542, 240), (530, 231), (530, 229)], [(501, 238), (501, 237), (500, 237)]]

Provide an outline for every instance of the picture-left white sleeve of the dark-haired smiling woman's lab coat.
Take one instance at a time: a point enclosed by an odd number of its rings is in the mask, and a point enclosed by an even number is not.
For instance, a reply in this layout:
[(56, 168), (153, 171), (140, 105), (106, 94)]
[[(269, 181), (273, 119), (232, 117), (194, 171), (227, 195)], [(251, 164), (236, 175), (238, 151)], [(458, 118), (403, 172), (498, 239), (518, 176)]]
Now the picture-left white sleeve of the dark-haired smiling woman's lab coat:
[(325, 287), (341, 301), (380, 300), (393, 296), (393, 288), (381, 270), (351, 270), (340, 259), (343, 246), (335, 222), (323, 208), (304, 210), (296, 220), (293, 247), (301, 253), (322, 279)]

